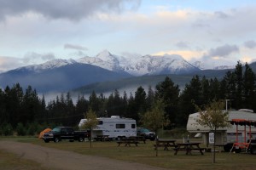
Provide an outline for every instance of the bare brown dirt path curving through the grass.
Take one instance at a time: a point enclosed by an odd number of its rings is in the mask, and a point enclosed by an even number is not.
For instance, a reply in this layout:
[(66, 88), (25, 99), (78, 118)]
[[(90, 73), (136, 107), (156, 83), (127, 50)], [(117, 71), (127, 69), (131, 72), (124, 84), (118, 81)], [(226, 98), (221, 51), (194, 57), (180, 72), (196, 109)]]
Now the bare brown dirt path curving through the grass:
[(84, 156), (72, 151), (56, 150), (36, 144), (0, 140), (1, 150), (15, 153), (22, 158), (38, 161), (42, 167), (55, 169), (86, 170), (164, 170), (140, 163), (118, 161), (100, 156)]

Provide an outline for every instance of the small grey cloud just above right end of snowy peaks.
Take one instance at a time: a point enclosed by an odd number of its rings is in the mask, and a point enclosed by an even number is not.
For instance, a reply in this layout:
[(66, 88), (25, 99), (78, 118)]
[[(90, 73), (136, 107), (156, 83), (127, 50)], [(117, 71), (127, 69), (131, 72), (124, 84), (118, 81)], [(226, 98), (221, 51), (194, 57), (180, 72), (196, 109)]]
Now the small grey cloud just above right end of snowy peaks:
[(225, 57), (232, 53), (239, 52), (239, 48), (236, 45), (224, 45), (218, 48), (211, 48), (207, 54), (208, 57)]

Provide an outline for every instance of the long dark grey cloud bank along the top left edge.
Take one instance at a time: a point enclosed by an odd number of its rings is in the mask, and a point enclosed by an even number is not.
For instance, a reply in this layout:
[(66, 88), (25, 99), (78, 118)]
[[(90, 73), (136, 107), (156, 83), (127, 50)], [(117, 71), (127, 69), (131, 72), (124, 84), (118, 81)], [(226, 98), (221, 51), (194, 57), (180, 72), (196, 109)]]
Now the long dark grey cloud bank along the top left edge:
[(140, 0), (0, 0), (0, 19), (29, 12), (50, 19), (81, 20), (96, 12), (121, 12), (138, 8)]

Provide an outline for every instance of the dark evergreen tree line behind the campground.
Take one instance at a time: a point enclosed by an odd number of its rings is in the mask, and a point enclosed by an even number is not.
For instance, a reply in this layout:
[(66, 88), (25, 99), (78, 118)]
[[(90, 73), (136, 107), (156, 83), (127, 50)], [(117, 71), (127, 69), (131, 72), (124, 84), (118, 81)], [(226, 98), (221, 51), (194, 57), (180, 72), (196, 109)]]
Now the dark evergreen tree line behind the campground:
[(232, 109), (256, 110), (256, 77), (249, 65), (238, 61), (234, 71), (227, 71), (222, 79), (192, 77), (183, 89), (166, 77), (154, 88), (137, 88), (135, 94), (119, 94), (117, 89), (108, 97), (91, 92), (89, 99), (79, 94), (73, 102), (71, 94), (61, 94), (46, 104), (44, 96), (38, 97), (36, 89), (28, 86), (25, 90), (16, 83), (12, 88), (0, 89), (0, 133), (20, 135), (38, 133), (44, 127), (56, 125), (77, 126), (87, 111), (95, 111), (96, 116), (122, 116), (137, 120), (142, 124), (142, 116), (161, 102), (168, 129), (185, 127), (189, 114), (197, 112), (212, 100), (229, 99)]

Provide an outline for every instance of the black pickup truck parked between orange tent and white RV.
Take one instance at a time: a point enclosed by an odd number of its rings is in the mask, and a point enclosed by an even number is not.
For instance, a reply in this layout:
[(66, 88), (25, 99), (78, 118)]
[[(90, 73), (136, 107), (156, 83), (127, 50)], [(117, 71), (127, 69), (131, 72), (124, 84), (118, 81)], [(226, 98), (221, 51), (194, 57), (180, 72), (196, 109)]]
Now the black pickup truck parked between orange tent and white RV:
[(68, 139), (71, 142), (74, 140), (83, 142), (85, 138), (88, 138), (87, 131), (74, 131), (73, 127), (55, 127), (43, 135), (45, 143), (49, 143), (49, 141), (59, 142), (62, 139)]

